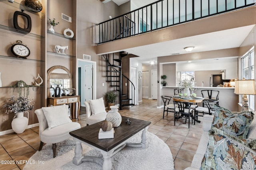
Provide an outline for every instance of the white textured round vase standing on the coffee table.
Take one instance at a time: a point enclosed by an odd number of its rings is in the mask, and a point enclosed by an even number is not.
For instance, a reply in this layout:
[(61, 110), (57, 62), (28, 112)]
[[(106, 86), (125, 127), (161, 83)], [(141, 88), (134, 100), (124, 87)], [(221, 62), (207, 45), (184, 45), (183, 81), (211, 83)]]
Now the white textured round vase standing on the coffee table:
[(110, 109), (106, 115), (106, 121), (110, 121), (113, 127), (118, 127), (122, 122), (122, 117), (118, 113), (118, 106), (110, 106)]

